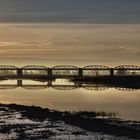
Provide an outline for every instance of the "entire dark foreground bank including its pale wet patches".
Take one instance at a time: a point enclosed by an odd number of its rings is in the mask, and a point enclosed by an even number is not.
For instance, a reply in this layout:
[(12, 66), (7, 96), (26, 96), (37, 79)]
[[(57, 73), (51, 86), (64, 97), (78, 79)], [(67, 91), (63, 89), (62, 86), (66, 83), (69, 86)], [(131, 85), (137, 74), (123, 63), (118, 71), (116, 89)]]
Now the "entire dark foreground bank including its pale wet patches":
[(0, 104), (0, 139), (140, 139), (140, 122), (117, 119), (115, 113)]

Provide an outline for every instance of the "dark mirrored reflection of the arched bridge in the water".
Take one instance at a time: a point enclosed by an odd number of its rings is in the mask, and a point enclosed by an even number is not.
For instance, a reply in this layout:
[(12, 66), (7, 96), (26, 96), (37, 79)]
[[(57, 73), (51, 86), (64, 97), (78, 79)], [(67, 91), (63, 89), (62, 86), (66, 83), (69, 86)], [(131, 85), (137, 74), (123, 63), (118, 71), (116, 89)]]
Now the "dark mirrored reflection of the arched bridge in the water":
[(90, 90), (90, 91), (101, 91), (101, 90), (106, 90), (108, 88), (115, 88), (117, 90), (121, 90), (121, 91), (132, 91), (132, 90), (136, 90), (133, 88), (123, 88), (123, 87), (111, 87), (111, 86), (107, 86), (107, 85), (103, 85), (103, 84), (70, 84), (70, 85), (56, 85), (53, 84), (52, 81), (48, 81), (45, 84), (41, 85), (41, 84), (23, 84), (24, 80), (17, 80), (17, 84), (0, 84), (0, 90), (11, 90), (11, 89), (16, 89), (16, 88), (23, 88), (23, 89), (27, 89), (27, 90), (42, 90), (42, 89), (47, 89), (47, 88), (53, 88), (56, 90), (75, 90), (78, 88), (83, 88), (85, 90)]

